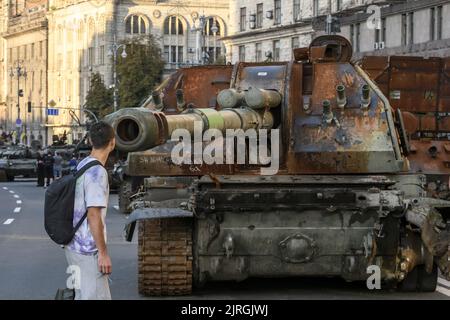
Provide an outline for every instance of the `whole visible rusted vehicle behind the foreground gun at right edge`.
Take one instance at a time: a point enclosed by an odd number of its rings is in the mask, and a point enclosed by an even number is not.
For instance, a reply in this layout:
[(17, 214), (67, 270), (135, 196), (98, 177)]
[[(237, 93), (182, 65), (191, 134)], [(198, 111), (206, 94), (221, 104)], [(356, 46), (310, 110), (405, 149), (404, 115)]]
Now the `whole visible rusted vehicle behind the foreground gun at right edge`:
[(450, 58), (365, 57), (362, 68), (402, 110), (412, 172), (427, 175), (429, 194), (449, 198)]

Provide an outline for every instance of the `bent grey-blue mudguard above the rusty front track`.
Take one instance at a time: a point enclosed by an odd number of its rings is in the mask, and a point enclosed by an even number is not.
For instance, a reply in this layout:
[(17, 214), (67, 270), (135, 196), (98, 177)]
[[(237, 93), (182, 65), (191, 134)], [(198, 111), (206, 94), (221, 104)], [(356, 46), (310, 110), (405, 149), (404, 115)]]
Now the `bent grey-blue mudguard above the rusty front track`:
[(133, 240), (134, 229), (138, 220), (169, 219), (169, 218), (192, 218), (191, 211), (180, 208), (138, 208), (128, 217), (125, 226), (125, 239), (128, 242)]

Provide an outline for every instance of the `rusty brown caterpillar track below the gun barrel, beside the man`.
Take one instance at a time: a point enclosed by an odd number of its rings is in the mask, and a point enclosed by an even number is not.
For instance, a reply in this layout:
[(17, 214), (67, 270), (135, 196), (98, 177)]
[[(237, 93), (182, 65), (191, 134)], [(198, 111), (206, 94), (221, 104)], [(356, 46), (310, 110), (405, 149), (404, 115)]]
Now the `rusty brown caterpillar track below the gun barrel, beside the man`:
[(139, 293), (150, 296), (192, 292), (192, 220), (141, 220), (138, 240)]

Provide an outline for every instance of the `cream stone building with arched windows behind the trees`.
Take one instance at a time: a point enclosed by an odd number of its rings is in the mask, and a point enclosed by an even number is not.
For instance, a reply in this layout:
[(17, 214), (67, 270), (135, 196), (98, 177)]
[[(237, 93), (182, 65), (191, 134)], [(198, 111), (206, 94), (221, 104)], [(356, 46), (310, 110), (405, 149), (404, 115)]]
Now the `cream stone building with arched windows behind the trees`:
[[(152, 34), (161, 46), (169, 73), (179, 66), (211, 59), (214, 54), (223, 55), (220, 38), (228, 35), (228, 16), (226, 0), (50, 0), (48, 100), (60, 110), (58, 116), (49, 116), (52, 134), (70, 132), (69, 141), (81, 137), (69, 110), (83, 121), (81, 109), (93, 73), (100, 73), (106, 86), (114, 85), (114, 44)], [(118, 48), (118, 54), (122, 50)]]

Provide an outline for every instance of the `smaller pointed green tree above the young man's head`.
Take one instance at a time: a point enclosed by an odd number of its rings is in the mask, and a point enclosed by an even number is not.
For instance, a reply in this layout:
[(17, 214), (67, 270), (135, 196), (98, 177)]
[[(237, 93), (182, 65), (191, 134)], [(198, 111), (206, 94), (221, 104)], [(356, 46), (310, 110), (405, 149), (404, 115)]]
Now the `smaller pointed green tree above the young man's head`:
[[(112, 90), (106, 88), (98, 72), (91, 75), (91, 83), (86, 96), (85, 107), (92, 111), (97, 118), (103, 118), (113, 110)], [(89, 115), (89, 117), (91, 116)]]

